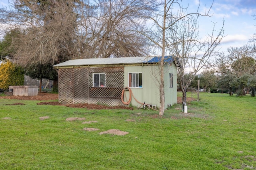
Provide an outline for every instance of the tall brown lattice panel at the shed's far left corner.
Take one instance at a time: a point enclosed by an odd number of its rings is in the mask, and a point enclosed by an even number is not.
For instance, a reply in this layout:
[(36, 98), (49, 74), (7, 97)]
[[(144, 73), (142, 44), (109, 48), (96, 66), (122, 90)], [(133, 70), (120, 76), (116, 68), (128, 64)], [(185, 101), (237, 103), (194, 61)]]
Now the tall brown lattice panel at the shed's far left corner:
[(59, 102), (73, 104), (73, 69), (59, 69)]

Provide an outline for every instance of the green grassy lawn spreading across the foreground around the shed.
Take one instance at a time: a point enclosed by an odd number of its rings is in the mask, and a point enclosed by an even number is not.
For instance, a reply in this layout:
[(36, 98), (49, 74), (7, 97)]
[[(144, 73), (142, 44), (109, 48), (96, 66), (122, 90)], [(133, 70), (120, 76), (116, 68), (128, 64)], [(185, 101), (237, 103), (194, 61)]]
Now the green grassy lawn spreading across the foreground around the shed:
[[(0, 99), (1, 170), (256, 169), (256, 98), (250, 96), (200, 93), (200, 101), (188, 105), (189, 113), (175, 105), (163, 117), (153, 110), (87, 110), (38, 102)], [(15, 103), (24, 105), (8, 105)], [(42, 121), (42, 116), (50, 118)], [(68, 117), (98, 122), (82, 124)], [(109, 129), (129, 134), (99, 134)]]

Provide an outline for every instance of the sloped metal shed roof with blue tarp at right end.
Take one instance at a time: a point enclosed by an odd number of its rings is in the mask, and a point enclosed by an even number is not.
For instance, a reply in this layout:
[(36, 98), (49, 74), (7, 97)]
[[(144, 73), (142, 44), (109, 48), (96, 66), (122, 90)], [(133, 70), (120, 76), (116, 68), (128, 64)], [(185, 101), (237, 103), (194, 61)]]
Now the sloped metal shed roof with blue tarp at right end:
[[(120, 58), (100, 58), (100, 59), (76, 59), (69, 60), (54, 67), (63, 66), (84, 66), (84, 65), (104, 65), (104, 64), (139, 64), (139, 63), (158, 63), (161, 57), (120, 57)], [(164, 62), (171, 63), (171, 56), (164, 57)]]

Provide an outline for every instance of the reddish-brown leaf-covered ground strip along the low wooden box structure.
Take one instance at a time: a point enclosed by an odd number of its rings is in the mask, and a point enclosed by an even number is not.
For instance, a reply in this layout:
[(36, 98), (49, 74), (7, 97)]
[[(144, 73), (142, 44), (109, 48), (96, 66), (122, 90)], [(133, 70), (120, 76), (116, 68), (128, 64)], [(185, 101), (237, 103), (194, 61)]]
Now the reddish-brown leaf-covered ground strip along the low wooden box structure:
[(57, 100), (58, 94), (39, 93), (38, 96), (0, 96), (0, 99), (17, 99), (17, 100)]

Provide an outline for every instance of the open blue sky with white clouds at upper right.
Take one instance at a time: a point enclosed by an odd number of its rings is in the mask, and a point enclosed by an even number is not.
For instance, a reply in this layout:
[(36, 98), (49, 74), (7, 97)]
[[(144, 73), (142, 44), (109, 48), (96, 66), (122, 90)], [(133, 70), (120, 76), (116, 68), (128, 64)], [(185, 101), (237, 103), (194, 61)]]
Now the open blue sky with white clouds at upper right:
[[(183, 0), (184, 6), (195, 11), (200, 4), (199, 11), (210, 8), (212, 0)], [(8, 7), (8, 0), (0, 0), (0, 8)], [(210, 10), (211, 17), (199, 17), (200, 37), (211, 33), (213, 23), (216, 31), (222, 27), (224, 20), (224, 35), (218, 46), (219, 51), (226, 51), (228, 47), (240, 47), (248, 43), (256, 33), (256, 0), (214, 0)]]

